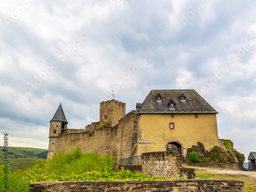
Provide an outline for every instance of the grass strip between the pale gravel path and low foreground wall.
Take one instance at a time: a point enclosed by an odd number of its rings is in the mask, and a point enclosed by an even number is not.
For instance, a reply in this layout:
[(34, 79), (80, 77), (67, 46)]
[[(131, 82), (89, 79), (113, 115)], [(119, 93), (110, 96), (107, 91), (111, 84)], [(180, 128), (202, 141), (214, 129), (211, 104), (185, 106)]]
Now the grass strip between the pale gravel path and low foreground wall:
[(245, 175), (224, 175), (224, 174), (212, 174), (207, 170), (195, 168), (196, 177), (195, 179), (226, 179), (226, 180), (239, 180), (244, 181), (244, 191), (245, 192), (255, 192), (256, 191), (256, 179), (250, 178)]

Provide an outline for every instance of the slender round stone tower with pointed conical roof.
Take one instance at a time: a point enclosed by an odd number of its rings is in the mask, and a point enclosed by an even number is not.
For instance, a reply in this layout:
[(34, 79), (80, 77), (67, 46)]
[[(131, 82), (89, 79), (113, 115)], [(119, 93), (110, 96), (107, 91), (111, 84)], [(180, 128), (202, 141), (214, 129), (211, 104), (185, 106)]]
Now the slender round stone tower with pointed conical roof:
[(63, 112), (61, 103), (50, 120), (50, 131), (49, 131), (49, 148), (48, 157), (52, 158), (53, 154), (57, 152), (59, 134), (65, 134), (68, 131), (68, 121)]

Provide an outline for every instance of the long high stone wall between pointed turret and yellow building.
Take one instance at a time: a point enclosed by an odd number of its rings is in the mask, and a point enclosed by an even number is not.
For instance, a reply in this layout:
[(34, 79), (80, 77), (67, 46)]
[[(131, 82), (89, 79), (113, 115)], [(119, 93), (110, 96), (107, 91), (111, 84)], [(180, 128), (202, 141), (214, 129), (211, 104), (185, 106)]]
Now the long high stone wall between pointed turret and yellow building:
[(131, 144), (137, 127), (136, 111), (126, 114), (119, 123), (110, 128), (81, 133), (60, 134), (57, 151), (70, 152), (80, 147), (82, 153), (98, 152), (99, 154), (111, 154), (116, 156), (116, 166), (121, 158), (130, 157)]

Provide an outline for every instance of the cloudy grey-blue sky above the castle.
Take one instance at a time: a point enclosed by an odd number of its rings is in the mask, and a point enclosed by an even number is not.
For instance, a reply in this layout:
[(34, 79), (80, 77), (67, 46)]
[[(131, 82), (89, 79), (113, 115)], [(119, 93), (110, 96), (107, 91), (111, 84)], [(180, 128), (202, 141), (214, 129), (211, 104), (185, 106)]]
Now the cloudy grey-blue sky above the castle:
[(1, 137), (48, 148), (60, 102), (68, 127), (81, 129), (98, 121), (112, 89), (126, 113), (152, 89), (195, 89), (219, 112), (219, 138), (247, 159), (256, 151), (255, 9), (253, 0), (2, 2)]

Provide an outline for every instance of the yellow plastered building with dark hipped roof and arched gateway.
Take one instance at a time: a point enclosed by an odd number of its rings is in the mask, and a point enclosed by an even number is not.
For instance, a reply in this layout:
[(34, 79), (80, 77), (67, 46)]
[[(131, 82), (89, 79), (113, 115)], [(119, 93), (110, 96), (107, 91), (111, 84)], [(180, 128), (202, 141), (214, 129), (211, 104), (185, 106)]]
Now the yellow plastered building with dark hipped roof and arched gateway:
[(217, 111), (195, 90), (152, 90), (136, 104), (138, 139), (133, 156), (146, 152), (177, 151), (197, 142), (206, 150), (219, 145)]

